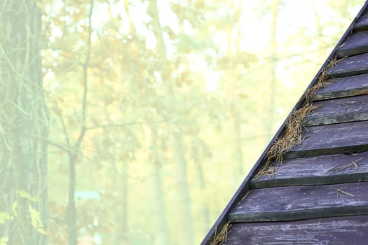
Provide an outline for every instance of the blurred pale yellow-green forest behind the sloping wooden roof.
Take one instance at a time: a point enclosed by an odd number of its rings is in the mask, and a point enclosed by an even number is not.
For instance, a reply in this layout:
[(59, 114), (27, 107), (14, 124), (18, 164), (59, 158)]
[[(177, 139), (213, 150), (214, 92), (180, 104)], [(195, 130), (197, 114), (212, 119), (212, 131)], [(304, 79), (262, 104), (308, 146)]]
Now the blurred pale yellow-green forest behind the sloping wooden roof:
[(1, 0), (0, 244), (199, 244), (363, 3)]

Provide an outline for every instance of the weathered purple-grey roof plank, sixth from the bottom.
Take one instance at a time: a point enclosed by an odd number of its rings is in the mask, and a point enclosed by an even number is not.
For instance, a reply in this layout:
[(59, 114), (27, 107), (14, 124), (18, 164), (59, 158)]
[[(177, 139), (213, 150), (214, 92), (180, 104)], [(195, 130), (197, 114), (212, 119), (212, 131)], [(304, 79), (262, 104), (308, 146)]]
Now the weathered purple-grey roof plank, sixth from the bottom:
[(313, 94), (314, 101), (368, 94), (368, 74), (336, 78), (327, 83)]

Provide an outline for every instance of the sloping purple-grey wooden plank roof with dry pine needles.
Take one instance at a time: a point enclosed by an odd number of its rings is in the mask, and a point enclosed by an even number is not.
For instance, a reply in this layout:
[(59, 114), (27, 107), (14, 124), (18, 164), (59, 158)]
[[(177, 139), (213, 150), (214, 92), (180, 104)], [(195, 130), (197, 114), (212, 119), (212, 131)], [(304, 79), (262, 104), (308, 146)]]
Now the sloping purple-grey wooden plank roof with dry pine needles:
[[(214, 223), (203, 245), (367, 244), (367, 5)], [(313, 90), (318, 83), (327, 85)], [(271, 174), (261, 174), (267, 173), (267, 153), (287, 134), (293, 113), (306, 105), (315, 109), (302, 120), (303, 140), (282, 153), (282, 164), (273, 159)]]

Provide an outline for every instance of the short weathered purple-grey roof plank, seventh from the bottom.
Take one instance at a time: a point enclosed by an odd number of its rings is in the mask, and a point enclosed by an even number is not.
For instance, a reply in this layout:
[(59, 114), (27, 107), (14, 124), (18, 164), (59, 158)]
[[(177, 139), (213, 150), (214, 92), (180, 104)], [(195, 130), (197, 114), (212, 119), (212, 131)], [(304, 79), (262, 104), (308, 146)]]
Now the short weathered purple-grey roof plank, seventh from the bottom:
[(332, 78), (343, 76), (353, 76), (368, 73), (368, 53), (355, 55), (341, 60), (330, 69), (327, 69), (327, 74)]

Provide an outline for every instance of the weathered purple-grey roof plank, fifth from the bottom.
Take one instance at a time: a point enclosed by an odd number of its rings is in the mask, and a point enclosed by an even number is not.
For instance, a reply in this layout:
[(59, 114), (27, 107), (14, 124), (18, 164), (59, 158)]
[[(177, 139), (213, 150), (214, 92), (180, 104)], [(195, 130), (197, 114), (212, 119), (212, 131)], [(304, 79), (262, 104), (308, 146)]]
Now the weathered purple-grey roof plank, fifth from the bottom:
[(331, 99), (313, 103), (318, 106), (303, 120), (303, 125), (326, 125), (368, 120), (368, 95)]

